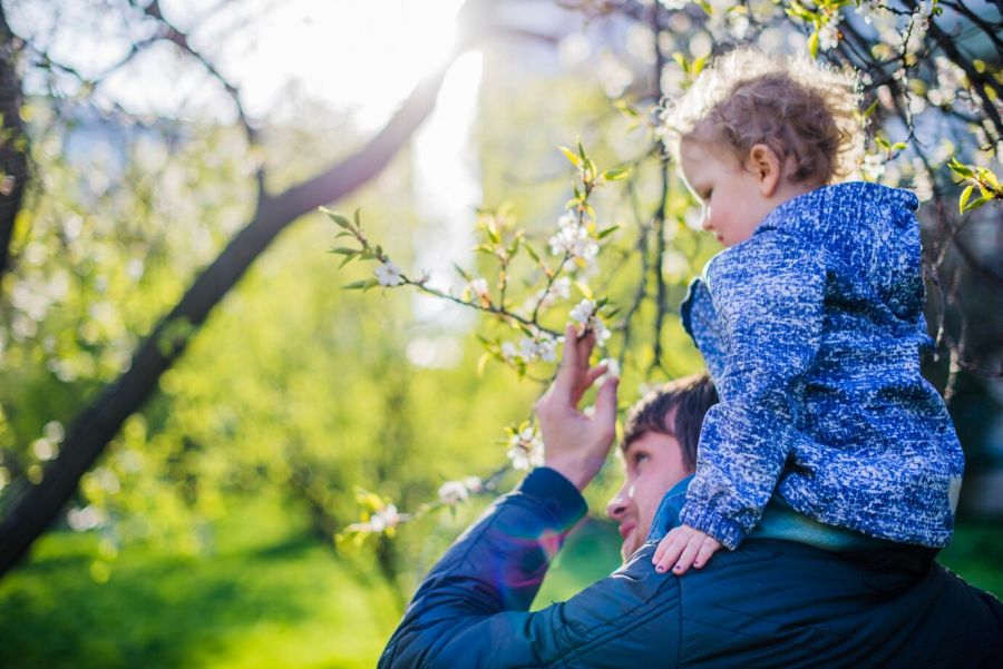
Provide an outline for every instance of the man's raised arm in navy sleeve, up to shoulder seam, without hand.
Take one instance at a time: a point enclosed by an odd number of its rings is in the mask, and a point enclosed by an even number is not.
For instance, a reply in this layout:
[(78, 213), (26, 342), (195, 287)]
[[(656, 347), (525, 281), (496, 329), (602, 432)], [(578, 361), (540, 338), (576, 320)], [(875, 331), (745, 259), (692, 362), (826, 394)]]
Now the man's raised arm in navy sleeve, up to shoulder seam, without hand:
[[(672, 666), (679, 580), (656, 574), (644, 547), (567, 602), (527, 612), (549, 559), (585, 513), (548, 468), (491, 505), (415, 594), (380, 667)], [(653, 642), (653, 640), (658, 640)]]

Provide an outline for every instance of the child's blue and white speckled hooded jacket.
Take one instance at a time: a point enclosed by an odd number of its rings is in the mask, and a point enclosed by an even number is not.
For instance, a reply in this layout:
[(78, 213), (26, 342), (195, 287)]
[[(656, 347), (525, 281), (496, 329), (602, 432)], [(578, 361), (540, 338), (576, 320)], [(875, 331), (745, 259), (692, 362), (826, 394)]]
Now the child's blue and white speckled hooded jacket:
[(683, 326), (721, 403), (682, 522), (734, 549), (773, 494), (896, 542), (951, 540), (964, 455), (919, 374), (916, 196), (867, 183), (788, 200), (711, 258)]

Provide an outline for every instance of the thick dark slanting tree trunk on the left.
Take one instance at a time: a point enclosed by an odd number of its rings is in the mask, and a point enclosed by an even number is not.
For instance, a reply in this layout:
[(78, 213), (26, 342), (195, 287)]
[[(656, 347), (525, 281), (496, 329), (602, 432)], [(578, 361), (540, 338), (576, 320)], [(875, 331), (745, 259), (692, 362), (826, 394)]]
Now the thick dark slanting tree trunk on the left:
[(251, 222), (188, 288), (133, 355), (127, 372), (108, 385), (70, 425), (64, 446), (41, 483), (11, 501), (0, 523), (0, 574), (26, 554), (77, 490), (80, 478), (123, 422), (156, 391), (160, 375), (184, 352), (185, 329), (197, 327), (290, 223), (352, 193), (378, 175), (435, 107), (448, 65), (421, 81), (387, 126), (358, 154), (276, 197), (262, 197)]

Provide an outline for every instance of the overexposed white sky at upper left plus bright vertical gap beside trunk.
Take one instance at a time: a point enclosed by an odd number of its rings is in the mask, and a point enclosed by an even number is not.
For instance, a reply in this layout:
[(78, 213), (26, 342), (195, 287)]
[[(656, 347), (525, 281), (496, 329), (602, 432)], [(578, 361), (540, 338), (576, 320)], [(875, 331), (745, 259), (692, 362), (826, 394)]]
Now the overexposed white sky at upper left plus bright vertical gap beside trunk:
[[(164, 16), (192, 36), (191, 43), (241, 90), (252, 118), (281, 119), (298, 98), (320, 99), (351, 110), (363, 132), (374, 132), (421, 78), (434, 71), (454, 43), (455, 17), (462, 0), (238, 0), (204, 18), (218, 0), (160, 0)], [(90, 2), (23, 0), (12, 17), (16, 29), (46, 35), (62, 9), (57, 32), (46, 46), (85, 76), (118, 61), (129, 48), (114, 16), (98, 16)], [(232, 8), (232, 9), (231, 9)], [(415, 187), (421, 218), (416, 267), (435, 269), (434, 284), (451, 277), (448, 260), (468, 264), (474, 208), (480, 204), (476, 156), (469, 131), (476, 115), (481, 57), (462, 56), (444, 82), (437, 107), (415, 137)], [(71, 81), (67, 82), (68, 86)], [(158, 116), (215, 117), (233, 120), (220, 85), (204, 69), (158, 45), (101, 87), (129, 111)], [(68, 89), (69, 92), (69, 89)], [(285, 112), (283, 111), (285, 110)], [(437, 301), (416, 299), (419, 321), (461, 327), (459, 314)], [(408, 355), (416, 364), (455, 364), (458, 346), (450, 335), (421, 338)]]

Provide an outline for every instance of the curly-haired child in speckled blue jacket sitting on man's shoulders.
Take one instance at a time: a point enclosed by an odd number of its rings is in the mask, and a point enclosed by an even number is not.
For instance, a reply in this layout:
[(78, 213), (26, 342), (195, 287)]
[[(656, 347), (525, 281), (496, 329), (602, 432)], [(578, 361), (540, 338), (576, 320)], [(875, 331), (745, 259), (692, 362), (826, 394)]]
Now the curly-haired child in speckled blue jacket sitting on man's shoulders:
[(659, 571), (701, 568), (750, 533), (931, 557), (951, 539), (964, 458), (919, 374), (918, 200), (834, 184), (863, 147), (856, 104), (847, 75), (740, 50), (666, 112), (726, 248), (681, 308), (721, 402)]

